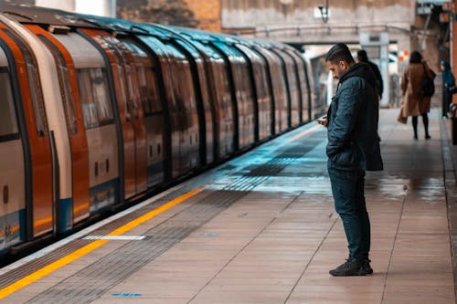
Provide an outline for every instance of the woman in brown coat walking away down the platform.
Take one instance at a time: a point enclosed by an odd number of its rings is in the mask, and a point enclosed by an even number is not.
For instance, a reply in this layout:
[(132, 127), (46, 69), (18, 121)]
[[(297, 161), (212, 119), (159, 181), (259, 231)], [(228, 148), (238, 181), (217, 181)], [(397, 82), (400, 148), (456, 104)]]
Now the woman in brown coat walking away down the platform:
[(424, 77), (432, 78), (433, 72), (425, 61), (422, 60), (420, 52), (413, 51), (409, 56), (409, 65), (401, 77), (401, 90), (403, 92), (403, 103), (401, 116), (412, 116), (412, 128), (414, 139), (418, 140), (418, 116), (422, 116), (425, 129), (425, 139), (430, 140), (429, 116), (430, 97), (422, 96), (422, 82)]

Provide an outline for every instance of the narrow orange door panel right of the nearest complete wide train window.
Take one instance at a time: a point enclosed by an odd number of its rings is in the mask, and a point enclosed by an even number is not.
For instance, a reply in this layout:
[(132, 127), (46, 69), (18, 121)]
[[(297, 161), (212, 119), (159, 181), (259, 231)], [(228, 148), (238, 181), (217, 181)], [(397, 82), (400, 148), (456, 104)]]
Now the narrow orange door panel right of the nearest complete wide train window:
[[(107, 64), (110, 65), (112, 70), (112, 81), (115, 92), (115, 106), (119, 109), (119, 120), (121, 122), (122, 130), (122, 144), (120, 151), (121, 162), (121, 188), (120, 194), (122, 195), (121, 203), (129, 197), (136, 194), (136, 181), (135, 181), (135, 134), (133, 128), (132, 112), (129, 105), (129, 98), (127, 96), (127, 88), (124, 82), (124, 70), (122, 68), (122, 61), (120, 58), (113, 54), (112, 49), (106, 44), (105, 38), (111, 37), (108, 32), (97, 29), (80, 29), (83, 37), (88, 37), (95, 41), (99, 47), (102, 48), (106, 55)], [(85, 35), (84, 35), (85, 34)]]

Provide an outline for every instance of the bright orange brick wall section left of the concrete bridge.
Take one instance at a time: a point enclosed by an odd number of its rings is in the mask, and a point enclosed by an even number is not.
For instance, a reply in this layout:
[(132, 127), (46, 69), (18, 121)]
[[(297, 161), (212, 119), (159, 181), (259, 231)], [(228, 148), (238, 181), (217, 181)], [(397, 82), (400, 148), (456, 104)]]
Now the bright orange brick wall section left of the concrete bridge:
[(221, 32), (220, 27), (220, 0), (185, 0), (189, 8), (194, 12), (199, 28)]

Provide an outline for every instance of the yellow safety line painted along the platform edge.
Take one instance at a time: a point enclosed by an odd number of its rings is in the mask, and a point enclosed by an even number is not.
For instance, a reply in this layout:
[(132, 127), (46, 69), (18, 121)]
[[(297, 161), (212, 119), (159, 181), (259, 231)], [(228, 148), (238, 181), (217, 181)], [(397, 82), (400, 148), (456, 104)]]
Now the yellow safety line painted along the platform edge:
[[(133, 221), (122, 225), (121, 227), (117, 228), (116, 230), (113, 230), (111, 233), (108, 234), (108, 236), (120, 236), (123, 233), (126, 233), (127, 231), (133, 229), (134, 227), (143, 224), (144, 222), (150, 220), (156, 215), (160, 215), (161, 213), (165, 212), (166, 210), (174, 207), (176, 204), (183, 203), (186, 201), (187, 198), (194, 196), (195, 194), (199, 193), (200, 191), (203, 190), (203, 187), (194, 189), (192, 191), (189, 191), (186, 194), (183, 194), (181, 196), (176, 197), (174, 200), (168, 202), (167, 204), (164, 204), (157, 209), (154, 209), (153, 211), (150, 211), (149, 213), (142, 215)], [(0, 299), (4, 299), (5, 297), (11, 295), (12, 293), (16, 292), (17, 290), (21, 288), (25, 288), (27, 285), (32, 284), (33, 282), (37, 281), (40, 278), (48, 276), (48, 274), (56, 271), (60, 267), (64, 267), (65, 265), (77, 260), (80, 257), (84, 257), (85, 255), (89, 254), (93, 250), (97, 249), (100, 246), (103, 246), (105, 243), (107, 243), (109, 240), (96, 240), (91, 242), (90, 244), (81, 247), (80, 249), (73, 251), (69, 255), (65, 257), (59, 258), (57, 261), (42, 267), (35, 271), (34, 273), (28, 275), (27, 277), (21, 278), (14, 282), (13, 284), (8, 285), (5, 288), (0, 289)]]

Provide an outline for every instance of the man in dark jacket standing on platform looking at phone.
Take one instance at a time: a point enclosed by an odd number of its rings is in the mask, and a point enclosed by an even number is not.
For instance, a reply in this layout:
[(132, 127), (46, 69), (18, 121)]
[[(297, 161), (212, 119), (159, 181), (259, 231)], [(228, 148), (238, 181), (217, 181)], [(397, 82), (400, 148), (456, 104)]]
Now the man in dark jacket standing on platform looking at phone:
[(365, 276), (373, 273), (368, 259), (370, 222), (365, 171), (383, 169), (377, 137), (376, 79), (366, 63), (354, 61), (343, 43), (332, 47), (325, 61), (339, 83), (326, 118), (318, 122), (328, 128), (328, 174), (349, 249), (345, 263), (330, 270), (330, 274)]

